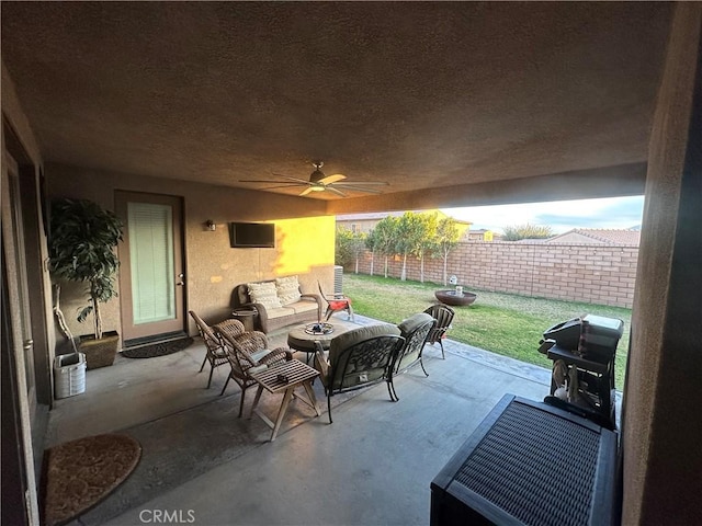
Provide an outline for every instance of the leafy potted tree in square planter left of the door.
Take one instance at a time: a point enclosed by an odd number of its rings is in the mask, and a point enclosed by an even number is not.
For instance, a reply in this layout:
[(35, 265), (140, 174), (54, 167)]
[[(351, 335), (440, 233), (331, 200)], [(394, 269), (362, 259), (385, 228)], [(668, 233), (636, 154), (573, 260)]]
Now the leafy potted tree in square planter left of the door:
[(91, 201), (61, 198), (52, 203), (49, 272), (55, 281), (88, 286), (88, 305), (78, 312), (79, 322), (90, 315), (93, 320), (93, 334), (80, 336), (79, 342), (88, 369), (112, 365), (120, 344), (116, 331), (102, 331), (100, 304), (117, 295), (120, 260), (114, 249), (122, 230), (122, 220), (114, 213)]

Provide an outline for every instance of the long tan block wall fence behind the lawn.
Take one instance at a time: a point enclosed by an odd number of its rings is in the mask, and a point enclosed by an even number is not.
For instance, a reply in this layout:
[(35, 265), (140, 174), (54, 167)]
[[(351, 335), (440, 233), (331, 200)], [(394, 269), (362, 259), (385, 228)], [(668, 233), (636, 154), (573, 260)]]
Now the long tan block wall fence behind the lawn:
[[(371, 253), (358, 272), (371, 274)], [(374, 275), (384, 275), (384, 256), (375, 256)], [(634, 301), (638, 247), (463, 242), (451, 251), (446, 275), (468, 289), (584, 301), (631, 308)], [(389, 277), (400, 277), (403, 260), (388, 258)], [(355, 264), (344, 272), (355, 272)], [(420, 279), (420, 262), (407, 258), (407, 279)], [(424, 282), (443, 284), (443, 259), (424, 259)], [(449, 285), (446, 288), (450, 288)]]

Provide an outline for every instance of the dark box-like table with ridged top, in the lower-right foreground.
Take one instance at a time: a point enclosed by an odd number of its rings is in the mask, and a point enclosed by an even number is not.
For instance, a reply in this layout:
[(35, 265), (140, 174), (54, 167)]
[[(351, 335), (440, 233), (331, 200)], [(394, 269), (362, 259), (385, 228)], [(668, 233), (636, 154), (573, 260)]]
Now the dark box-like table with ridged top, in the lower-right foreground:
[(431, 482), (431, 525), (610, 525), (616, 433), (507, 395)]

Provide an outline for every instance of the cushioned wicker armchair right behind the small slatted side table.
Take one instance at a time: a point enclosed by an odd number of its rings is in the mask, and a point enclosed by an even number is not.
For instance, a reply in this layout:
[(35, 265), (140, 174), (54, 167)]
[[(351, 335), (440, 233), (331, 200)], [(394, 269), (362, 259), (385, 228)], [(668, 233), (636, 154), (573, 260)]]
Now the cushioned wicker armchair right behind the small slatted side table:
[(241, 388), (239, 401), (239, 418), (241, 418), (246, 390), (256, 384), (251, 375), (293, 359), (293, 353), (287, 347), (269, 350), (265, 334), (259, 331), (247, 332), (239, 320), (225, 320), (214, 325), (213, 330), (226, 350), (227, 359), (231, 366), (220, 395), (224, 395), (230, 379), (237, 382)]

